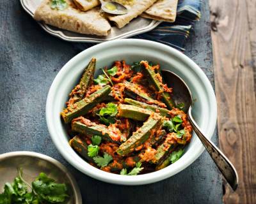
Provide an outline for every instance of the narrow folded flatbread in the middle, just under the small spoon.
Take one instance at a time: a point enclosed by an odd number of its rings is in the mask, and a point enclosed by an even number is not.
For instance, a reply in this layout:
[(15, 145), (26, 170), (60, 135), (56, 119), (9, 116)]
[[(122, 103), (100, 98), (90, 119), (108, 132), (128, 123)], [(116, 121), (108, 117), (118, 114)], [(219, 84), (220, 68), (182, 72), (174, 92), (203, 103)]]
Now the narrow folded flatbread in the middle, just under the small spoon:
[(124, 25), (128, 24), (133, 18), (141, 15), (143, 11), (147, 10), (152, 4), (154, 4), (157, 0), (134, 0), (134, 4), (131, 6), (127, 5), (128, 13), (124, 15), (116, 15), (108, 17), (109, 20), (115, 22), (118, 28), (124, 27)]

